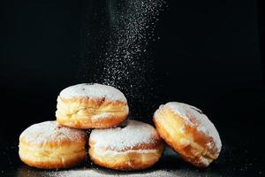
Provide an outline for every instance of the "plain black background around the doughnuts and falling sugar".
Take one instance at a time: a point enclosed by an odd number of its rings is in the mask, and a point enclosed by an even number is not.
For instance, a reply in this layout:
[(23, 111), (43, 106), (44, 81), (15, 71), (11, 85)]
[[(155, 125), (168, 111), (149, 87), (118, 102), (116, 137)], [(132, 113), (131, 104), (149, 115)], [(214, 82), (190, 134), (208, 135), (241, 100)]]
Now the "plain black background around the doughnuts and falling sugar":
[[(83, 43), (90, 27), (86, 4), (102, 14), (104, 2), (1, 2), (2, 146), (16, 147), (26, 127), (55, 119), (61, 89), (91, 81), (81, 66), (84, 59), (95, 59), (89, 58)], [(156, 78), (152, 87), (158, 96), (150, 100), (153, 112), (169, 101), (201, 108), (224, 144), (238, 152), (247, 150), (241, 158), (254, 166), (244, 172), (253, 175), (261, 175), (264, 157), (261, 9), (254, 0), (167, 1), (155, 28), (160, 40), (149, 46)], [(101, 16), (93, 27), (100, 20)], [(149, 121), (153, 112), (139, 107), (137, 112), (147, 117), (141, 119)]]

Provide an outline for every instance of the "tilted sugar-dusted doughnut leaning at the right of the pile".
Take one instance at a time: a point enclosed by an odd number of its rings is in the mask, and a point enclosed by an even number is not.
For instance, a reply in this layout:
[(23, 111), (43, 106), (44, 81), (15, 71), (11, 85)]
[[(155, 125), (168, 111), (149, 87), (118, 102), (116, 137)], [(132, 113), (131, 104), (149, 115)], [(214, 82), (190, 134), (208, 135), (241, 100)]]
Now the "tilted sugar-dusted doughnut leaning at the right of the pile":
[(198, 108), (178, 102), (160, 105), (153, 120), (158, 134), (187, 162), (207, 167), (222, 142), (214, 124)]

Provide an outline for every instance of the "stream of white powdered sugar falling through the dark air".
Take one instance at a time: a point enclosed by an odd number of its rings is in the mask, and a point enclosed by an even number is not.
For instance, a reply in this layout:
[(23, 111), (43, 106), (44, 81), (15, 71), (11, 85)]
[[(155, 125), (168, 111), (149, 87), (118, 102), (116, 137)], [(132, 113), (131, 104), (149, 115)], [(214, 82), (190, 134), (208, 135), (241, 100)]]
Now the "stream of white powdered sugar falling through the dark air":
[[(157, 84), (149, 54), (150, 44), (159, 39), (155, 34), (155, 25), (163, 4), (164, 0), (107, 0), (106, 6), (96, 11), (95, 17), (103, 16), (102, 23), (98, 24), (103, 24), (100, 27), (104, 28), (102, 33), (98, 33), (98, 28), (93, 28), (94, 20), (92, 24), (84, 21), (82, 40), (85, 38), (87, 41), (83, 43), (85, 51), (79, 79), (122, 90), (133, 105), (131, 113), (139, 118), (147, 116), (155, 108), (150, 100), (157, 97), (154, 87)], [(100, 17), (99, 12), (102, 12)], [(87, 14), (87, 19), (91, 19), (91, 10), (87, 10)], [(102, 44), (98, 45), (98, 42)], [(98, 45), (96, 49), (95, 45)], [(140, 109), (142, 105), (146, 105), (145, 112)]]

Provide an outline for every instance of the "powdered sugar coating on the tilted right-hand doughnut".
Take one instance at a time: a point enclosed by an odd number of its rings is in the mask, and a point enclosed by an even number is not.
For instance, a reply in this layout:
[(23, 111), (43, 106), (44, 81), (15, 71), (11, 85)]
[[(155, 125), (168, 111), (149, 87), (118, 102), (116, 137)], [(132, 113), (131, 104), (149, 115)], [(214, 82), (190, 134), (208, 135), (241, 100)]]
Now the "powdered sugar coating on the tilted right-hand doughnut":
[(178, 102), (170, 102), (162, 106), (169, 107), (173, 112), (178, 113), (180, 117), (185, 119), (186, 124), (192, 127), (197, 127), (198, 131), (211, 136), (216, 144), (217, 150), (221, 150), (222, 142), (220, 140), (220, 136), (216, 130), (216, 127), (208, 119), (208, 117), (201, 112), (201, 110), (192, 105)]

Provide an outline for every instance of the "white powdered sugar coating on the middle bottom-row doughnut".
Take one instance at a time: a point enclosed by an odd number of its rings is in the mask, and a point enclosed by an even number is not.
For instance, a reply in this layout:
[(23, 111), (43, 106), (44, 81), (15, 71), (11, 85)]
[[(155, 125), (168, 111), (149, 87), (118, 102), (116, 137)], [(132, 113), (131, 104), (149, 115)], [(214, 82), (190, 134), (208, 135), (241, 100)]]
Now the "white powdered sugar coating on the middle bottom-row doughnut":
[(155, 128), (136, 120), (128, 120), (124, 128), (94, 129), (89, 141), (95, 142), (95, 147), (105, 147), (121, 151), (133, 148), (141, 143), (154, 142), (158, 138)]

